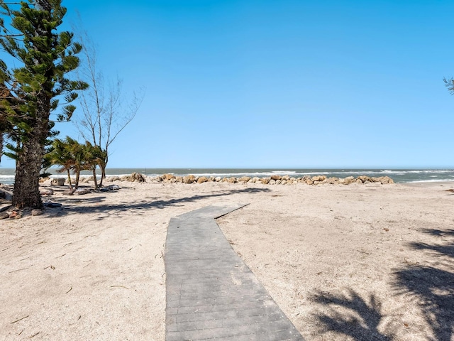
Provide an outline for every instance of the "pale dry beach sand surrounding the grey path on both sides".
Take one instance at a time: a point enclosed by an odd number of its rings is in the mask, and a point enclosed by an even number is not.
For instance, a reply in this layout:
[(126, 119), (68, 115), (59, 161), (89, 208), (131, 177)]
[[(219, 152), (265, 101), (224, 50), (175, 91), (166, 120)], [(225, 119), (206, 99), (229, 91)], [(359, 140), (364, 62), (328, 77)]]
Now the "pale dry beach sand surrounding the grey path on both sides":
[(311, 340), (454, 340), (453, 183), (117, 183), (0, 220), (0, 340), (165, 340), (170, 217), (226, 237)]

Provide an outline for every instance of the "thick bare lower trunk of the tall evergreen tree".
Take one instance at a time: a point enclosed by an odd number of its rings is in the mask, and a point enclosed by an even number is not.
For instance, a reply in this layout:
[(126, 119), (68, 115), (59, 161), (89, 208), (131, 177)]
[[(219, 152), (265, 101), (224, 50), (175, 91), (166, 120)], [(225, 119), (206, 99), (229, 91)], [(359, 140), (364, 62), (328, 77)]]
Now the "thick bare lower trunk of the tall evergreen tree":
[(23, 143), (16, 160), (13, 206), (43, 208), (40, 195), (40, 171), (44, 148), (37, 136)]

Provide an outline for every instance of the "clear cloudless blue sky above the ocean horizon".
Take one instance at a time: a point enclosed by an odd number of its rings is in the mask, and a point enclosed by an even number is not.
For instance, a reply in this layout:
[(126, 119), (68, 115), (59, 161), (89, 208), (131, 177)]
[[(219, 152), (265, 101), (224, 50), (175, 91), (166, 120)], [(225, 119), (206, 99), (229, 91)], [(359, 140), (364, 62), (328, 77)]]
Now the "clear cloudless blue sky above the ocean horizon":
[(454, 168), (453, 1), (62, 4), (146, 87), (111, 168)]

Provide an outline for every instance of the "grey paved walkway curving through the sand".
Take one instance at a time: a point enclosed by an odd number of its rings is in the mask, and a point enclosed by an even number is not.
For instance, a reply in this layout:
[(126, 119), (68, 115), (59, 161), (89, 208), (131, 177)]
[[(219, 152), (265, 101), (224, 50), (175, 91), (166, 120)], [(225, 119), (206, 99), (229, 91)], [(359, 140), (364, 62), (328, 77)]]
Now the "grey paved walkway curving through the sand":
[(208, 206), (170, 220), (166, 341), (303, 340), (214, 220), (243, 206)]

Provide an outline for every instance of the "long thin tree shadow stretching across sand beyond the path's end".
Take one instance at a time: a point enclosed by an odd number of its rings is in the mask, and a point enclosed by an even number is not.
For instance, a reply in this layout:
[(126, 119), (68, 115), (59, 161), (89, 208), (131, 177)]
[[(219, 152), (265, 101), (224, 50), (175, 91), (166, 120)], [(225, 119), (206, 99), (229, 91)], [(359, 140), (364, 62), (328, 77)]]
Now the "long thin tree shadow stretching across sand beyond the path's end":
[[(134, 200), (131, 195), (131, 202), (121, 202), (119, 204), (107, 204), (106, 195), (109, 193), (102, 193), (102, 195), (94, 197), (59, 197), (52, 199), (52, 202), (59, 202), (65, 208), (60, 211), (60, 215), (67, 215), (70, 212), (77, 213), (102, 213), (119, 211), (124, 212), (127, 210), (150, 210), (150, 209), (163, 209), (165, 207), (182, 206), (185, 202), (196, 202), (204, 200), (209, 197), (226, 197), (228, 195), (238, 193), (264, 193), (270, 192), (268, 188), (243, 188), (240, 190), (220, 190), (215, 193), (204, 194), (204, 195), (192, 195), (191, 197), (175, 197), (168, 200), (156, 200), (157, 197), (147, 198), (148, 200)], [(77, 204), (77, 205), (74, 205)]]

